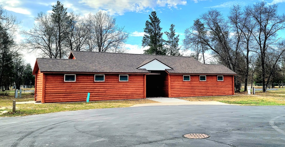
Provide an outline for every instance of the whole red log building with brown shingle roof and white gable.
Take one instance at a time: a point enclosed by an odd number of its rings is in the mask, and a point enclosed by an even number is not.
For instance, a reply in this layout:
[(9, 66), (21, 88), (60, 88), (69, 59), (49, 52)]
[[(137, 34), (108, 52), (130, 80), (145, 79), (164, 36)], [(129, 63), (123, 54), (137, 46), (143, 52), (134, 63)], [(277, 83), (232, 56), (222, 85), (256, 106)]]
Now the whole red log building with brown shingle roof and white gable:
[(33, 74), (42, 103), (234, 95), (236, 75), (191, 57), (83, 51), (37, 58)]

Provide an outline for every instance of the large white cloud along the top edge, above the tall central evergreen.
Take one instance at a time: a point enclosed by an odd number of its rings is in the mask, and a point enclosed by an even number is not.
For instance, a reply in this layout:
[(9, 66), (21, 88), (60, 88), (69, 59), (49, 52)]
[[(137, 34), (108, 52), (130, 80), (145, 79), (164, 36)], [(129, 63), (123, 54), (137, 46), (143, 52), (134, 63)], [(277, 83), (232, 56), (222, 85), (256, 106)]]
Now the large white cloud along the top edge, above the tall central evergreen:
[(186, 5), (186, 0), (81, 0), (85, 6), (93, 8), (95, 10), (106, 10), (111, 15), (118, 14), (123, 15), (125, 12), (145, 12), (147, 8), (154, 9), (155, 7), (169, 7), (177, 8), (177, 5)]

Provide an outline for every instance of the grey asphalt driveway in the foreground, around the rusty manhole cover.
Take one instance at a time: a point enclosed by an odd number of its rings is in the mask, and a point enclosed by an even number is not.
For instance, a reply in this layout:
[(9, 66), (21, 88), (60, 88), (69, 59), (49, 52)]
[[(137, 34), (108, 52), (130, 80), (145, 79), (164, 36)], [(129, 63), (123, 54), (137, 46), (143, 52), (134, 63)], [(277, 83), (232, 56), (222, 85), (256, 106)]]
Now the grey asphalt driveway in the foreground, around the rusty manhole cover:
[[(206, 139), (183, 138), (205, 133)], [(285, 146), (285, 107), (178, 105), (0, 118), (0, 146)]]

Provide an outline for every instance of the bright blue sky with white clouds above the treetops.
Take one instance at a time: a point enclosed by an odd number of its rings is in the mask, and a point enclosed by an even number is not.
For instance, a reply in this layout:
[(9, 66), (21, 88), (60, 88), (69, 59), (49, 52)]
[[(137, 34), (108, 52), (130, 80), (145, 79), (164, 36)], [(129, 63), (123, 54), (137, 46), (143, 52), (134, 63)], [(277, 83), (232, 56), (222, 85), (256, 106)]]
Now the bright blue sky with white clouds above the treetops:
[[(125, 26), (125, 30), (130, 33), (126, 42), (126, 48), (129, 53), (142, 54), (142, 36), (145, 21), (151, 11), (156, 11), (157, 16), (161, 20), (162, 31), (169, 31), (170, 25), (173, 23), (177, 34), (180, 34), (180, 42), (184, 39), (184, 30), (193, 24), (193, 21), (199, 15), (205, 13), (209, 9), (217, 9), (221, 11), (225, 17), (229, 14), (229, 8), (233, 4), (241, 6), (252, 5), (260, 0), (62, 0), (60, 1), (67, 11), (80, 13), (82, 16), (88, 13), (95, 14), (99, 10), (104, 10), (110, 15), (116, 17), (116, 23), (119, 26)], [(268, 0), (267, 3), (278, 3), (278, 12), (285, 13), (285, 0)], [(52, 12), (52, 5), (56, 1), (51, 0), (0, 0), (0, 4), (10, 14), (17, 16), (20, 24), (20, 30), (29, 30), (34, 25), (34, 17), (39, 12)], [(282, 33), (283, 34), (283, 33)], [(166, 38), (166, 35), (164, 36)], [(17, 40), (23, 37), (17, 35)], [(27, 62), (35, 63), (34, 54), (25, 54)]]

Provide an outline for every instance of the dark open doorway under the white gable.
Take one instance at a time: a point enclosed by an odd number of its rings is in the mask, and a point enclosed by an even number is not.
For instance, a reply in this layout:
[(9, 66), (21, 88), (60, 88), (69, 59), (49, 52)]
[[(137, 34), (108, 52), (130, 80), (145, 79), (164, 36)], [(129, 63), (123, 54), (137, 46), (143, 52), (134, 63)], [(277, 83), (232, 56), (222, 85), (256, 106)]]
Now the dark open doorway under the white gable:
[(151, 71), (146, 75), (146, 97), (163, 97), (165, 71)]

